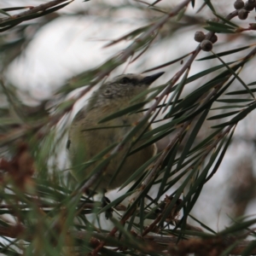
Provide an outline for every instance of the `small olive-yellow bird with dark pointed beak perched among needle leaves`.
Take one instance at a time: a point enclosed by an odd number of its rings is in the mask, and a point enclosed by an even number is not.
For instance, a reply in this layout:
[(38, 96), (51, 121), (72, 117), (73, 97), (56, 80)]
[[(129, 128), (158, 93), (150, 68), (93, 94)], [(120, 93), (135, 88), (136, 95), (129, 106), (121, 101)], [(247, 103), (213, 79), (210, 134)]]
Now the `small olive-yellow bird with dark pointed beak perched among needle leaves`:
[[(163, 73), (149, 76), (134, 73), (121, 74), (102, 84), (92, 93), (88, 104), (85, 104), (74, 117), (68, 134), (67, 148), (72, 163), (72, 174), (78, 182), (82, 182), (92, 175), (93, 170), (104, 159), (104, 155), (107, 154), (107, 151), (109, 152), (106, 148), (113, 148), (114, 143), (121, 142), (125, 134), (131, 131), (132, 125), (143, 118), (143, 113), (122, 115), (102, 124), (99, 124), (99, 121), (111, 113), (131, 106), (131, 100), (147, 90), (148, 86), (160, 78)], [(145, 99), (146, 96), (138, 97), (136, 103), (144, 102)], [(102, 126), (104, 128), (101, 128)], [(139, 140), (136, 147), (143, 143), (145, 141)], [(104, 166), (102, 177), (96, 184), (96, 191), (105, 193), (108, 190), (119, 188), (156, 152), (155, 145), (151, 144), (128, 155), (118, 175), (113, 179), (130, 146), (130, 143), (125, 143), (123, 148), (108, 162), (108, 165)], [(107, 151), (100, 154), (104, 149)], [(92, 160), (93, 158), (94, 160)], [(110, 181), (112, 182), (110, 183)]]

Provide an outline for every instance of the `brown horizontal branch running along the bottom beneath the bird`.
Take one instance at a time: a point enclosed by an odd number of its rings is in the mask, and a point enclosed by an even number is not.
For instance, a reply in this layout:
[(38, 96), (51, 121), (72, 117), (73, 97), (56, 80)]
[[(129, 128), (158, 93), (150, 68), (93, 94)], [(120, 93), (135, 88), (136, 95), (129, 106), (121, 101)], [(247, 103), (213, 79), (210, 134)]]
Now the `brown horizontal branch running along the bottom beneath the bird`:
[[(25, 226), (13, 226), (13, 227), (0, 227), (0, 236), (8, 236), (10, 238), (17, 238), (21, 234), (26, 234), (28, 230)], [(73, 236), (74, 239), (87, 240), (90, 239), (90, 246), (97, 247), (100, 244), (100, 241), (106, 241), (106, 246), (108, 247), (119, 247), (120, 243), (125, 243), (127, 238), (122, 237), (119, 239), (119, 235), (113, 236), (111, 240), (108, 240), (108, 235), (103, 235), (102, 233), (87, 232), (87, 231), (68, 231), (67, 235)], [(169, 252), (175, 250), (176, 253), (201, 253), (204, 249), (207, 248), (207, 252), (211, 252), (216, 248), (221, 247), (222, 251), (232, 246), (234, 242), (237, 241), (236, 237), (226, 238), (221, 236), (213, 236), (208, 238), (189, 238), (187, 240), (180, 241), (177, 243), (177, 238), (174, 236), (137, 236), (136, 240), (143, 243), (145, 251), (149, 252), (163, 252), (167, 249)], [(24, 238), (24, 237), (23, 237)], [(27, 241), (32, 241), (32, 234), (26, 236)], [(241, 237), (239, 237), (241, 239)], [(100, 240), (100, 241), (99, 241)], [(236, 247), (234, 247), (230, 254), (241, 255), (241, 253), (247, 248), (247, 246), (252, 241), (241, 241)], [(193, 245), (193, 246), (191, 246)], [(253, 249), (251, 254), (256, 253), (256, 248)], [(175, 254), (177, 255), (177, 254)], [(178, 254), (182, 255), (182, 254)], [(201, 255), (201, 254), (199, 254)], [(209, 255), (209, 254), (205, 254)]]

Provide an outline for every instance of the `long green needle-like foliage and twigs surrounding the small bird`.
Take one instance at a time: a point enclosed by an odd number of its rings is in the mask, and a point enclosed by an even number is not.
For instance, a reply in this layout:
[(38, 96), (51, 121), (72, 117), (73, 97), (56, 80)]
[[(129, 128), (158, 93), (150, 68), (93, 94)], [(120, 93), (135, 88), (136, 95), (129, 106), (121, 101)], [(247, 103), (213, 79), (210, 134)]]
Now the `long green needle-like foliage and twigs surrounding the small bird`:
[[(249, 3), (241, 8), (247, 11), (243, 15), (233, 6), (220, 12), (218, 1), (205, 0), (201, 6), (195, 0), (122, 1), (117, 5), (84, 1), (89, 15), (99, 19), (110, 20), (124, 9), (140, 11), (144, 25), (123, 32), (124, 36), (105, 45), (110, 48), (128, 43), (121, 52), (67, 79), (52, 96), (32, 107), (22, 100), (26, 91), (9, 82), (8, 67), (23, 54), (38, 29), (65, 17), (57, 11), (65, 13), (76, 1), (44, 1), (38, 6), (22, 6), (20, 1), (18, 7), (0, 9), (1, 255), (255, 254), (256, 242), (247, 241), (247, 237), (252, 240), (255, 236), (256, 218), (230, 217), (231, 224), (226, 228), (212, 230), (211, 219), (204, 223), (192, 212), (200, 207), (197, 201), (206, 193), (206, 183), (223, 171), (221, 163), (237, 125), (253, 116), (256, 108), (255, 24), (241, 24), (241, 20), (249, 22), (253, 16)], [(97, 9), (90, 14), (91, 4)], [(105, 17), (101, 16), (103, 10)], [(209, 20), (209, 14), (215, 20)], [(84, 13), (74, 10), (72, 15)], [(28, 37), (29, 29), (32, 34)], [(187, 33), (191, 30), (206, 33), (198, 45)], [(165, 51), (163, 45), (168, 47), (180, 33), (187, 34), (186, 40), (195, 44), (195, 49), (154, 64), (155, 49)], [(216, 35), (220, 38), (217, 42)], [(205, 49), (203, 41), (213, 48)], [(148, 69), (141, 64), (147, 58), (152, 63)], [(140, 63), (139, 73), (165, 71), (165, 77), (161, 84), (137, 95), (128, 108), (106, 114), (98, 126), (88, 128), (121, 129), (121, 125), (109, 127), (104, 123), (144, 113), (121, 141), (75, 166), (83, 169), (99, 163), (90, 176), (76, 181), (69, 172), (74, 166), (58, 164), (65, 151), (74, 104), (115, 69), (131, 63)], [(194, 73), (192, 67), (196, 67)], [(245, 75), (247, 68), (251, 76)], [(81, 90), (68, 97), (75, 89)], [(146, 102), (135, 103), (145, 95)], [(150, 129), (148, 122), (154, 128)], [(143, 144), (137, 146), (142, 140)], [(123, 193), (102, 206), (94, 190), (104, 178), (109, 161), (125, 144), (131, 145), (125, 147), (128, 150), (115, 178), (121, 175), (119, 171), (129, 155), (153, 143), (157, 143), (157, 154), (132, 172), (120, 188)]]

